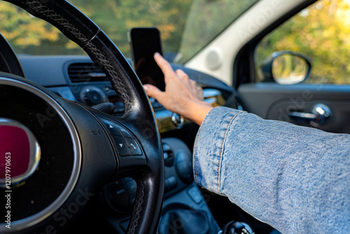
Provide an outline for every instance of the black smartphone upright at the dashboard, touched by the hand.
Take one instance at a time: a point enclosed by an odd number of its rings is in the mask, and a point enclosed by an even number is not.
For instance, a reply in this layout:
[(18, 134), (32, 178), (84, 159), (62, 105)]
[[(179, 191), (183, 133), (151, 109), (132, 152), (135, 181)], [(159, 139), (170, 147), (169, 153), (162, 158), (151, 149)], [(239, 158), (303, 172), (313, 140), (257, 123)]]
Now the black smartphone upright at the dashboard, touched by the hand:
[(158, 52), (162, 55), (160, 32), (155, 27), (132, 28), (129, 32), (132, 64), (141, 83), (155, 85), (165, 90), (164, 74), (153, 55)]

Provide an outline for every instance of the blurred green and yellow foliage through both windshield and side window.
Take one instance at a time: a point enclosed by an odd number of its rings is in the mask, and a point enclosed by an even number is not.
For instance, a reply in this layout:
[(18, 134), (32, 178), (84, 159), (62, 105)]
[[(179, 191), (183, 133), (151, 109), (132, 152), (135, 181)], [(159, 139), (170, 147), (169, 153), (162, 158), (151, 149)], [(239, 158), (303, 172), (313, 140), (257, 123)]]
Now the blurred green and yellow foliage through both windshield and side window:
[[(180, 63), (200, 51), (255, 1), (71, 0), (126, 57), (130, 57), (130, 28), (158, 27), (163, 51), (179, 53)], [(84, 54), (55, 27), (3, 1), (0, 22), (1, 34), (17, 53)], [(257, 69), (262, 60), (279, 50), (294, 50), (311, 60), (313, 69), (306, 83), (350, 83), (350, 0), (317, 1), (274, 29), (255, 50)]]

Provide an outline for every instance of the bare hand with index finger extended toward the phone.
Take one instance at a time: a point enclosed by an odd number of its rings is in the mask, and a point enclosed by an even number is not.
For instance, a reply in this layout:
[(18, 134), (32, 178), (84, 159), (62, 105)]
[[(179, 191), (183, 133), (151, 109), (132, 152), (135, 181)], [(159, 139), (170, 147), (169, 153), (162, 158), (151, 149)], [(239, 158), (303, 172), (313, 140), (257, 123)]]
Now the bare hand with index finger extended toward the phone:
[(153, 85), (144, 85), (147, 95), (157, 99), (169, 111), (179, 113), (201, 125), (204, 117), (213, 108), (203, 102), (202, 88), (197, 87), (197, 83), (190, 80), (181, 69), (174, 71), (159, 53), (155, 53), (154, 58), (165, 76), (165, 92)]

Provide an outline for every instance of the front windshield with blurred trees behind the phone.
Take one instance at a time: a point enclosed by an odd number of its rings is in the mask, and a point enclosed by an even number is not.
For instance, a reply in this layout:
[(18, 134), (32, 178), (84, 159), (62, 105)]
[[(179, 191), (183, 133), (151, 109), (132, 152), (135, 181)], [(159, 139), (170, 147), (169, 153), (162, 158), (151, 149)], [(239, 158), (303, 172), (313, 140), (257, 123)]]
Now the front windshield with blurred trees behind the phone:
[[(183, 64), (258, 0), (71, 0), (101, 27), (126, 57), (132, 27), (158, 27), (168, 60)], [(18, 54), (84, 55), (57, 29), (0, 2), (0, 32)]]

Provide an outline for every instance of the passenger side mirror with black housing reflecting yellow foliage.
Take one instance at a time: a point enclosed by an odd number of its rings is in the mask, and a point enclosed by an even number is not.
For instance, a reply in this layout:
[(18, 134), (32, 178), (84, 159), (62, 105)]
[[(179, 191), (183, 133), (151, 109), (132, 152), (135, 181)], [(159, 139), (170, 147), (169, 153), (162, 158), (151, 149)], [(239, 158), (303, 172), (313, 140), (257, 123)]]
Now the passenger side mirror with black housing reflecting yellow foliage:
[(311, 71), (309, 60), (299, 53), (281, 50), (273, 53), (262, 62), (262, 81), (281, 85), (302, 83)]

